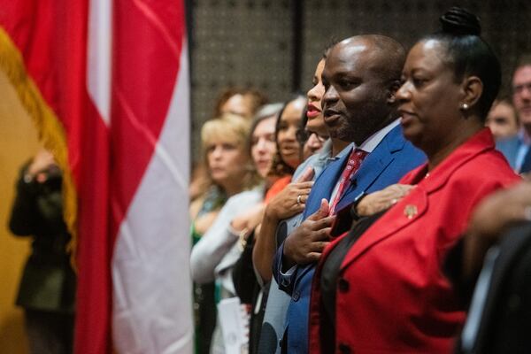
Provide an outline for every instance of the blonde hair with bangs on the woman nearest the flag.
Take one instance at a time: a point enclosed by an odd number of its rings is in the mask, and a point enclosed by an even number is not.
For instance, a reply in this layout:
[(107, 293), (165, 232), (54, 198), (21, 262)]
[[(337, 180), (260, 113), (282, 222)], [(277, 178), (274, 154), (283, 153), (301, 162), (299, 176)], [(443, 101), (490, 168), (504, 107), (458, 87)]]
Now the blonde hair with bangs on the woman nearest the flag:
[[(250, 120), (239, 115), (225, 113), (216, 119), (207, 120), (201, 128), (201, 142), (203, 147), (204, 164), (208, 165), (207, 152), (209, 145), (216, 141), (233, 142), (247, 158), (248, 163), (242, 168), (246, 170), (242, 185), (243, 189), (250, 189), (258, 184), (258, 173), (252, 164), (250, 153), (246, 149), (250, 135)], [(212, 181), (212, 180), (211, 180)], [(212, 184), (214, 182), (212, 181)]]

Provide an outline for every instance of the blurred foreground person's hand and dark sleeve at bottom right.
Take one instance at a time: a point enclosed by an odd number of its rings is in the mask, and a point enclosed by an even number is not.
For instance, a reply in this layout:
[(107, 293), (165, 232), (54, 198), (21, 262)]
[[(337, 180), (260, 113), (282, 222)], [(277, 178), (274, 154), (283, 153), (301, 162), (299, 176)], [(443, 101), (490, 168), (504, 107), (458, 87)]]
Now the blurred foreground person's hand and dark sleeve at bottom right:
[(457, 353), (531, 351), (530, 205), (529, 182), (485, 198), (445, 262), (468, 304)]

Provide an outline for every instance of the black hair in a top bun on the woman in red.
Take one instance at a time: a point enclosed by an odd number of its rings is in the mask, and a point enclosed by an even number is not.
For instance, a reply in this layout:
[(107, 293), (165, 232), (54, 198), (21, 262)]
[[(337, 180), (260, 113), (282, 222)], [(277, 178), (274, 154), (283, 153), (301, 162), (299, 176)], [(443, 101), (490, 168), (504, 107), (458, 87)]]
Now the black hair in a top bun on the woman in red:
[(480, 19), (472, 12), (452, 7), (439, 20), (441, 31), (427, 35), (424, 40), (435, 39), (444, 43), (456, 80), (461, 81), (468, 75), (480, 78), (483, 92), (477, 109), (484, 121), (500, 89), (500, 62), (489, 44), (481, 38)]

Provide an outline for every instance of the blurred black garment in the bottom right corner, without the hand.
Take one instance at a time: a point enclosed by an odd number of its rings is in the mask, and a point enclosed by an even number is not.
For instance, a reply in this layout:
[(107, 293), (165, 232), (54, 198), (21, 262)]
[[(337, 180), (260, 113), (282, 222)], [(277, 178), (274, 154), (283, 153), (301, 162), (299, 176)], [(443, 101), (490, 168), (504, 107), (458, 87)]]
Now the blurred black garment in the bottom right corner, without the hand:
[(531, 353), (531, 222), (512, 227), (496, 252), (472, 345), (462, 340), (458, 353)]

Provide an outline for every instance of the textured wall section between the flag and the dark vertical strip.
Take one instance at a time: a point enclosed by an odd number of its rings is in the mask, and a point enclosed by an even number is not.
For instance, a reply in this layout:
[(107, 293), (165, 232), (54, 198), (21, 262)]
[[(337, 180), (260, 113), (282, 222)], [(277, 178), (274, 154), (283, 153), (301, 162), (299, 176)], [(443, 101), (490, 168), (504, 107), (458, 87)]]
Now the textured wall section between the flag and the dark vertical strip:
[(212, 118), (219, 91), (254, 86), (271, 100), (290, 87), (292, 65), (289, 1), (197, 0), (192, 7), (193, 147), (204, 120)]

